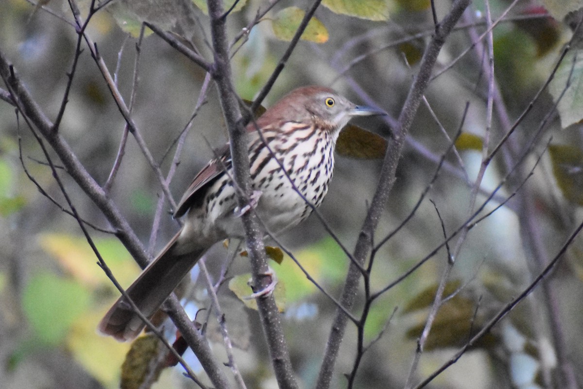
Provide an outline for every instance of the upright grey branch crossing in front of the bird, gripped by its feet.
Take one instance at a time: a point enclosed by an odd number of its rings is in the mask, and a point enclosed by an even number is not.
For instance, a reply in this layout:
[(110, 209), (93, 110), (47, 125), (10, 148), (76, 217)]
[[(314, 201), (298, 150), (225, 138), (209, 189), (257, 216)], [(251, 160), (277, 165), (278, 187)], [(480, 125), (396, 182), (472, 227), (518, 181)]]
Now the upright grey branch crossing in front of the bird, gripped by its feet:
[[(208, 6), (213, 49), (215, 51), (213, 76), (219, 90), (227, 129), (229, 129), (234, 179), (237, 187), (241, 189), (237, 194), (237, 200), (240, 208), (243, 209), (248, 206), (250, 195), (247, 130), (242, 124), (243, 117), (241, 116), (237, 96), (233, 90), (223, 4), (220, 0), (209, 0)], [(271, 276), (266, 276), (269, 273), (269, 267), (262, 240), (263, 233), (254, 212), (245, 212), (241, 218), (245, 229), (247, 250), (250, 254), (253, 283), (255, 288), (264, 289), (271, 282)], [(259, 297), (257, 306), (279, 387), (297, 388), (298, 385), (291, 368), (291, 360), (287, 351), (286, 340), (283, 336), (281, 318), (278, 307), (275, 304), (275, 298), (273, 295)]]

